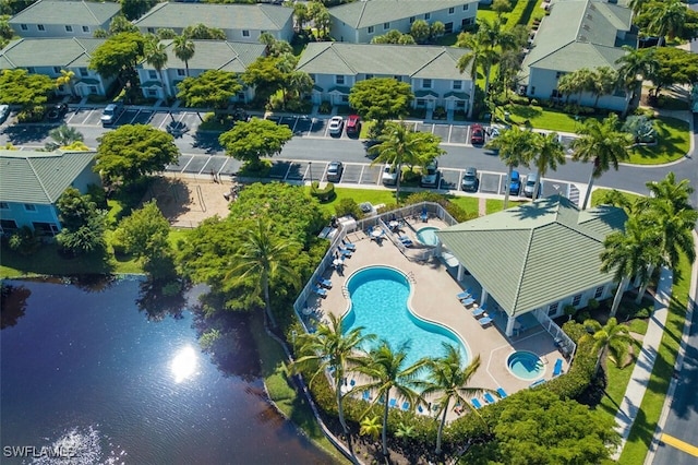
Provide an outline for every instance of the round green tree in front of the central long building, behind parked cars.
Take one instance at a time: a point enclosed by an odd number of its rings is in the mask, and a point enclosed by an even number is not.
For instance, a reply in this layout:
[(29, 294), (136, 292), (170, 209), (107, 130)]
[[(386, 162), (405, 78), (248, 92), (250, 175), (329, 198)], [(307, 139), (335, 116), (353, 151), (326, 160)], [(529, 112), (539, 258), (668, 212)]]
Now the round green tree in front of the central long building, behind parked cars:
[(386, 120), (407, 115), (413, 99), (414, 94), (410, 84), (398, 82), (393, 78), (359, 81), (349, 93), (351, 108), (364, 119), (376, 120), (377, 132), (383, 130)]

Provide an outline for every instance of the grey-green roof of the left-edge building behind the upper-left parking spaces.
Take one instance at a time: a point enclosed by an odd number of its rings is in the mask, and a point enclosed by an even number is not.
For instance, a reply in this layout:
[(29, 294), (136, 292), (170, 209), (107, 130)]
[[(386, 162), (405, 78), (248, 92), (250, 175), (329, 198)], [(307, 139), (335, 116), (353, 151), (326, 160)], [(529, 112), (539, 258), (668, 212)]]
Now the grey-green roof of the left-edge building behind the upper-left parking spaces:
[(101, 38), (22, 38), (0, 50), (0, 69), (86, 68)]

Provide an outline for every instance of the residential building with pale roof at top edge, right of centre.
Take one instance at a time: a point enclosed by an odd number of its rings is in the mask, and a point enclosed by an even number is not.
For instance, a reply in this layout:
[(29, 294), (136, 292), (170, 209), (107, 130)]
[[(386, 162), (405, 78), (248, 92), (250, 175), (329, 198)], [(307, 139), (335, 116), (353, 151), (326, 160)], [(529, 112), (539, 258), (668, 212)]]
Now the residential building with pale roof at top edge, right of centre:
[(474, 24), (477, 13), (478, 0), (368, 0), (330, 8), (329, 19), (335, 40), (369, 44), (390, 29), (409, 33), (417, 20), (457, 33)]

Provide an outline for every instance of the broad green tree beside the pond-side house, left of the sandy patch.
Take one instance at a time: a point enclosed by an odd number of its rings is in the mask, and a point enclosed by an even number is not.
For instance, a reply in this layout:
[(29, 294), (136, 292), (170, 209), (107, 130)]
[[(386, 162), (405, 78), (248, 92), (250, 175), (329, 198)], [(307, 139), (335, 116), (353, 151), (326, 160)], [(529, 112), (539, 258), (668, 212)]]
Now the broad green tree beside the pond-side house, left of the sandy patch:
[(165, 131), (147, 124), (124, 124), (97, 140), (94, 170), (105, 184), (131, 184), (144, 176), (163, 171), (177, 162), (179, 148)]

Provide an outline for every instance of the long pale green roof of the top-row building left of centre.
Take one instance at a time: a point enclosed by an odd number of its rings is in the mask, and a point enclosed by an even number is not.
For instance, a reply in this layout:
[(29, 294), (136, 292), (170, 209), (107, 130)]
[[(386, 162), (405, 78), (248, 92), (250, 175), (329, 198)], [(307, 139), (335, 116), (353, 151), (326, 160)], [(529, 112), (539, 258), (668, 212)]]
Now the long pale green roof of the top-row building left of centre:
[(273, 4), (158, 3), (135, 21), (137, 27), (183, 28), (200, 23), (219, 29), (280, 31), (293, 10)]

